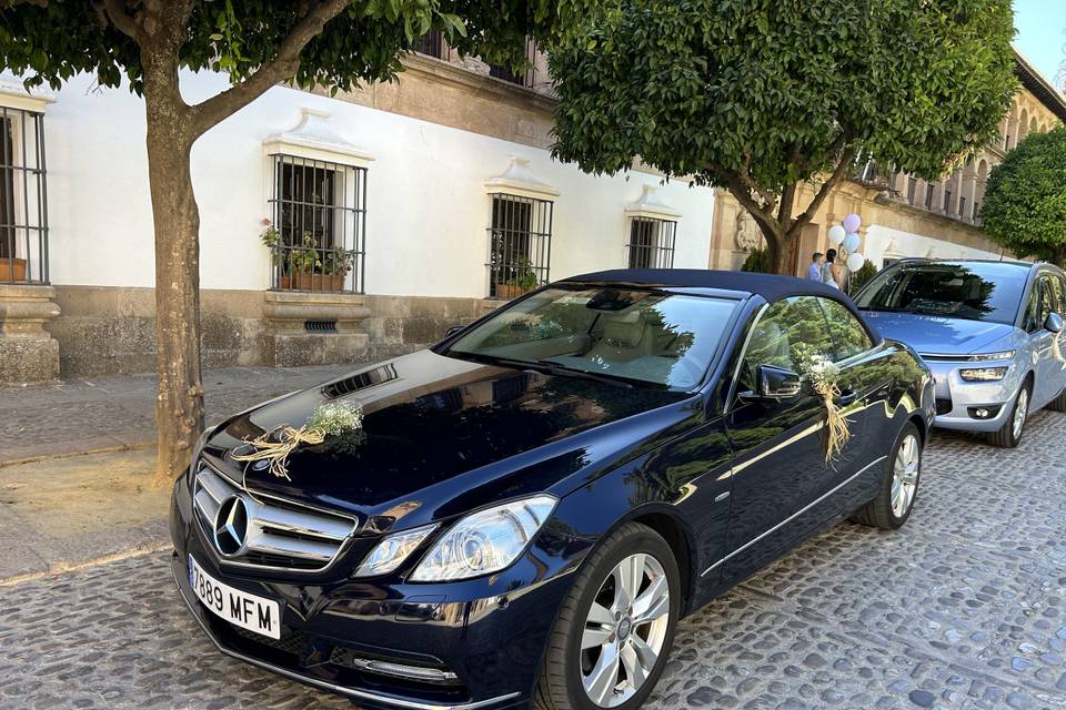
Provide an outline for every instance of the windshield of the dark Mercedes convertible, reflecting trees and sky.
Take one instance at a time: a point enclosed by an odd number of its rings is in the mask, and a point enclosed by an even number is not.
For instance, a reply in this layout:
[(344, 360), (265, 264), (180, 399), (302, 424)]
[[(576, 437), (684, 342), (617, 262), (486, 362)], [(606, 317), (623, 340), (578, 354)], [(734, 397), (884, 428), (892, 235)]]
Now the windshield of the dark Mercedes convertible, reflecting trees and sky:
[(711, 365), (736, 305), (661, 291), (551, 287), (495, 314), (445, 354), (692, 389)]

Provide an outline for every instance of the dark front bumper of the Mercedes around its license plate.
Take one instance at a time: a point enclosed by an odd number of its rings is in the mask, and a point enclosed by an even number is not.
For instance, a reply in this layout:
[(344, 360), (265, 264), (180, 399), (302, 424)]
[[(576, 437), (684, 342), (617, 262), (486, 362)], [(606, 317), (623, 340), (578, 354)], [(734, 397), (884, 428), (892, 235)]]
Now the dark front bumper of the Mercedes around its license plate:
[[(223, 653), (368, 708), (497, 710), (525, 706), (569, 574), (517, 584), (525, 560), (495, 577), (444, 584), (351, 579), (338, 565), (331, 579), (223, 568), (192, 523), (179, 481), (171, 510), (174, 582), (190, 612)], [(187, 490), (187, 489), (185, 489)], [(187, 495), (187, 494), (185, 494)], [(185, 504), (185, 505), (183, 505)], [(531, 551), (532, 554), (532, 551)], [(282, 637), (244, 631), (209, 612), (189, 586), (188, 557), (209, 575), (282, 606)], [(353, 557), (360, 557), (353, 550)], [(513, 577), (507, 578), (507, 572)], [(371, 672), (376, 660), (454, 673), (450, 683)]]

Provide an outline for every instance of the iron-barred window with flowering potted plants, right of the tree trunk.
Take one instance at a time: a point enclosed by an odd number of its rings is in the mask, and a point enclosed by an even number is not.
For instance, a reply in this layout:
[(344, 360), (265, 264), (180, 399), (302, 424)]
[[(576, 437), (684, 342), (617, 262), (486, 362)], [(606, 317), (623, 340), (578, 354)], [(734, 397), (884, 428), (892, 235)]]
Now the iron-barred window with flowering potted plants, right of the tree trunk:
[(363, 293), (366, 169), (276, 154), (272, 287)]

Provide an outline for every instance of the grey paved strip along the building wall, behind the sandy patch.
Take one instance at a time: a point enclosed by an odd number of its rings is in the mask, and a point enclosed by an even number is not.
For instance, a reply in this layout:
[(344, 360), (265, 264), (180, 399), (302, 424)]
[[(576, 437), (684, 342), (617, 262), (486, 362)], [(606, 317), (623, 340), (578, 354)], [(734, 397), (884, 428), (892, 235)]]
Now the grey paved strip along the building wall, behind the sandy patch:
[[(228, 367), (205, 371), (207, 420), (213, 422), (360, 365)], [(74, 379), (44, 387), (0, 388), (0, 467), (155, 442), (155, 375)]]

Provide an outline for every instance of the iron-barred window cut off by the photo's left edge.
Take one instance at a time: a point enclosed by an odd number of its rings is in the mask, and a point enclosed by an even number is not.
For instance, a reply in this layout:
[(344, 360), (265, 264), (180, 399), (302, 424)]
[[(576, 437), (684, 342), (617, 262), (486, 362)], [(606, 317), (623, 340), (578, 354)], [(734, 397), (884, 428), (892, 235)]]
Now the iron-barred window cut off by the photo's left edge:
[(48, 283), (44, 114), (0, 106), (0, 284)]

